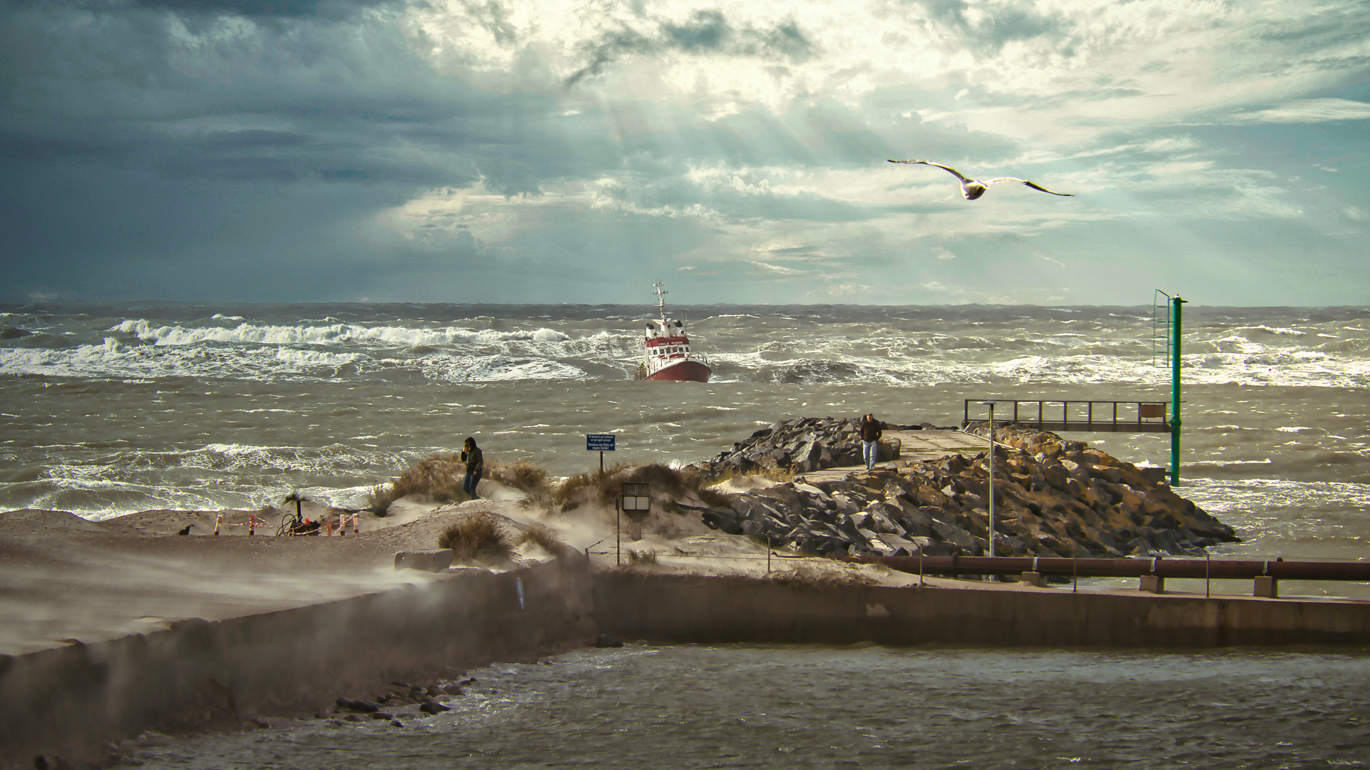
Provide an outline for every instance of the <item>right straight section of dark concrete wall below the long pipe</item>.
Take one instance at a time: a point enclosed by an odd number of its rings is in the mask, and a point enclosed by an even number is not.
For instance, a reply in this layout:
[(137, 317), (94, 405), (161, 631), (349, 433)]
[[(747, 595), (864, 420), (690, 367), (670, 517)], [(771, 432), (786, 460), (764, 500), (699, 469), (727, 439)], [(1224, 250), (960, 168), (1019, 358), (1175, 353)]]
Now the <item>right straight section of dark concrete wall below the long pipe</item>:
[(692, 643), (1222, 647), (1370, 644), (1370, 603), (975, 591), (606, 573), (600, 630)]

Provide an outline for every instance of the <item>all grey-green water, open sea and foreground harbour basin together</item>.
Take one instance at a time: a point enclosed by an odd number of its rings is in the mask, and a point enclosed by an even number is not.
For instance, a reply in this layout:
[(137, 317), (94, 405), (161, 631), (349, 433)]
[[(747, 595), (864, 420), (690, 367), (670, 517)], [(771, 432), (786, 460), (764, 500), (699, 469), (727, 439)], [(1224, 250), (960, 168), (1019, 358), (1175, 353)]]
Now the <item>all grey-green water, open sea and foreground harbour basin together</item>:
[[(711, 382), (632, 380), (645, 303), (0, 306), (0, 510), (358, 506), (467, 436), (567, 475), (597, 467), (588, 433), (616, 436), (608, 463), (684, 464), (781, 418), (1170, 397), (1145, 306), (669, 310)], [(1214, 555), (1370, 556), (1370, 308), (1188, 306), (1184, 330), (1177, 490), (1243, 537)], [(1169, 436), (1069, 437), (1169, 464)], [(1366, 767), (1363, 652), (630, 645), (481, 670), (406, 728), (152, 740), (126, 766)]]

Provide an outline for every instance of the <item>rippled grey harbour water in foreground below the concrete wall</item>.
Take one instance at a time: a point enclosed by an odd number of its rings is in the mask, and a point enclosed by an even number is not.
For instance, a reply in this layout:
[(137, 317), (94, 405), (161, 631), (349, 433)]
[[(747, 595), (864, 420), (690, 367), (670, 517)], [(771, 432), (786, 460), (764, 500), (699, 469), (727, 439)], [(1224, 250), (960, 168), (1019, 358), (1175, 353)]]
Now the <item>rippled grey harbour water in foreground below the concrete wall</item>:
[(1370, 659), (627, 647), (473, 671), (453, 710), (144, 748), (123, 767), (1370, 767)]

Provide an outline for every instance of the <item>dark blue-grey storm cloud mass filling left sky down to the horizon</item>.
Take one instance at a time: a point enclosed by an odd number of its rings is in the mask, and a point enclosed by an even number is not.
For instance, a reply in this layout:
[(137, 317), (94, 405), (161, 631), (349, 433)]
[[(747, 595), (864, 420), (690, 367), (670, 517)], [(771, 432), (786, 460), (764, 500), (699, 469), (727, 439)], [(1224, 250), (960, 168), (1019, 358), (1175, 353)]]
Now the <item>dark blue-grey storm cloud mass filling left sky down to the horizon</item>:
[(393, 25), (310, 18), (323, 3), (227, 18), (248, 5), (4, 7), (4, 295), (332, 293), (408, 253), (377, 212), (482, 178), (536, 193), (607, 156), (601, 130), (553, 130), (549, 97), (436, 75)]

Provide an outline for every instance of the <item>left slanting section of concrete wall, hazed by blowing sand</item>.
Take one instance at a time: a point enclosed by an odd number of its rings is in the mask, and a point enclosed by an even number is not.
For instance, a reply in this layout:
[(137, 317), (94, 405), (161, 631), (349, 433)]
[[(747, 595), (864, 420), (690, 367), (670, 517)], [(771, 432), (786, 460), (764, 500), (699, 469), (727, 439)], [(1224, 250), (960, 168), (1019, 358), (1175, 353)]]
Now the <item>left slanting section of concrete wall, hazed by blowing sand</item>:
[[(519, 608), (515, 581), (523, 584)], [(0, 656), (0, 766), (90, 759), (145, 729), (312, 714), (340, 695), (432, 681), (595, 638), (589, 564), (463, 570), (410, 586), (100, 644)]]

